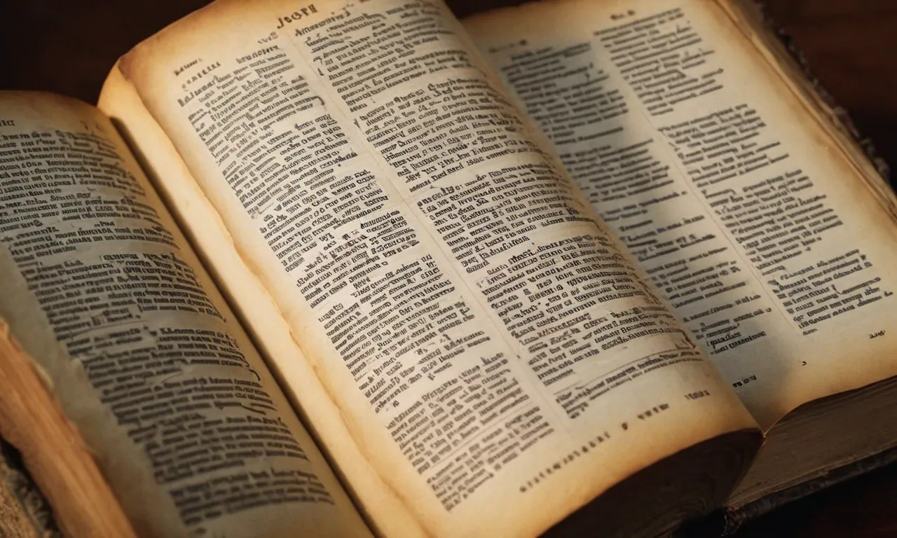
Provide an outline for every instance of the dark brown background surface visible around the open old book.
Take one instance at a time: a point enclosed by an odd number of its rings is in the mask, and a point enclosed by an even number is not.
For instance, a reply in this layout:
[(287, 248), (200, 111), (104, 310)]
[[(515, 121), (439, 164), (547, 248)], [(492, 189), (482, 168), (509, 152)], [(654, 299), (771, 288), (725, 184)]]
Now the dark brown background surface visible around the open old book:
[[(458, 16), (513, 0), (448, 0)], [(128, 48), (203, 0), (0, 0), (0, 89), (96, 102)], [(897, 166), (897, 0), (766, 0), (814, 74)], [(897, 536), (897, 465), (779, 508), (737, 538)]]

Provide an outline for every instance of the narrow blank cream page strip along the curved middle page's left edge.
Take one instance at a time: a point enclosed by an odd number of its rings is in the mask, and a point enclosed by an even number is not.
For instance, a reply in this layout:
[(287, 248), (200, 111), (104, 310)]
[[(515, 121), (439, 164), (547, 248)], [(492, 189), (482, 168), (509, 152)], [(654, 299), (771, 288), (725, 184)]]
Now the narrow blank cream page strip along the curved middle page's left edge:
[[(118, 68), (109, 74), (98, 107), (113, 118), (118, 131), (135, 148), (141, 165), (172, 208), (190, 244), (198, 251), (213, 277), (228, 288), (232, 305), (239, 309), (242, 325), (256, 343), (292, 397), (294, 408), (316, 438), (327, 443), (331, 462), (350, 493), (364, 498), (359, 506), (377, 514), (377, 525), (386, 536), (423, 536), (422, 526), (364, 457), (315, 370), (305, 359), (270, 291), (260, 280), (252, 258), (240, 256), (221, 216), (190, 175), (187, 165), (168, 136), (152, 119), (134, 87)], [(286, 367), (286, 368), (284, 368)]]

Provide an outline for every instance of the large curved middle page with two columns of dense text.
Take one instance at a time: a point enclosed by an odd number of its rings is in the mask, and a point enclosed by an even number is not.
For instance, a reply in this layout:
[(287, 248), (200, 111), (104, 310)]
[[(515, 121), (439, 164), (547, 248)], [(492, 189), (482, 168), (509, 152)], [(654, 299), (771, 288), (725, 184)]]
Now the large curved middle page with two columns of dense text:
[(535, 534), (753, 425), (443, 4), (220, 2), (121, 70), (425, 532)]

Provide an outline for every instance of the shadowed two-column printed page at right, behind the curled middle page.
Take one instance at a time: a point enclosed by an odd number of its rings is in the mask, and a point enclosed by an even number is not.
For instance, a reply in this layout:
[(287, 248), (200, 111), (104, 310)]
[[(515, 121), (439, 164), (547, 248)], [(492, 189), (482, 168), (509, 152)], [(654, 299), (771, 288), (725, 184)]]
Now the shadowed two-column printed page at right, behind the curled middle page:
[(466, 22), (597, 213), (764, 427), (897, 374), (897, 227), (718, 4)]

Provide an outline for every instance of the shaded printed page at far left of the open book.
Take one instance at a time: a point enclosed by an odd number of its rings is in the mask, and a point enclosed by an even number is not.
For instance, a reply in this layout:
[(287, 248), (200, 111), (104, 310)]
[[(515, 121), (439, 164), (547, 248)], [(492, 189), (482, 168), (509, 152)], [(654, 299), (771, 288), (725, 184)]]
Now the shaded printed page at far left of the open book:
[(370, 535), (109, 119), (2, 93), (0, 157), (0, 318), (138, 534)]

